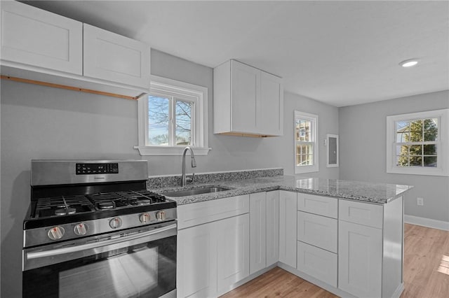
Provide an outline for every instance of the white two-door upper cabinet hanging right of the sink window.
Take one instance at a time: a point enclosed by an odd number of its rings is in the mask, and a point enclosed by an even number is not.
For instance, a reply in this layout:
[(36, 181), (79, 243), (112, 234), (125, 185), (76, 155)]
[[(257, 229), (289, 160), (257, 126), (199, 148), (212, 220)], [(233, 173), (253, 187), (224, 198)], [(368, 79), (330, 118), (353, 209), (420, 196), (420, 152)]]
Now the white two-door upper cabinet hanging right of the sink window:
[(213, 76), (215, 134), (283, 134), (281, 78), (236, 60), (217, 66)]

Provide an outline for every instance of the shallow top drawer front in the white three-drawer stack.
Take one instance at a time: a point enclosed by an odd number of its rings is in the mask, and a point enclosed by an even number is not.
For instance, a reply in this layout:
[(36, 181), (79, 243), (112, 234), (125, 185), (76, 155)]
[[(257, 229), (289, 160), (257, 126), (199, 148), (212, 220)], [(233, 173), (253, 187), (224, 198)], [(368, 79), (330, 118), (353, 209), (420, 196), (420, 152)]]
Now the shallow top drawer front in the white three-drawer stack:
[(297, 210), (337, 218), (338, 199), (298, 193)]

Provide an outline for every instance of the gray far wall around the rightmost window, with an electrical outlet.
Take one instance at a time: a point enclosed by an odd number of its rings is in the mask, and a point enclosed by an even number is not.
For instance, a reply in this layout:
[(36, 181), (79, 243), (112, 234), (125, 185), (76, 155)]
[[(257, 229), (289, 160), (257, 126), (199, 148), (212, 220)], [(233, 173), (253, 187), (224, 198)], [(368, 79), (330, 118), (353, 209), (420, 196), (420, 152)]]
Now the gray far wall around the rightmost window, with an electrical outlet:
[[(406, 215), (449, 222), (449, 177), (386, 172), (386, 117), (449, 108), (449, 91), (340, 108), (340, 179), (414, 185)], [(417, 206), (416, 198), (424, 198)]]

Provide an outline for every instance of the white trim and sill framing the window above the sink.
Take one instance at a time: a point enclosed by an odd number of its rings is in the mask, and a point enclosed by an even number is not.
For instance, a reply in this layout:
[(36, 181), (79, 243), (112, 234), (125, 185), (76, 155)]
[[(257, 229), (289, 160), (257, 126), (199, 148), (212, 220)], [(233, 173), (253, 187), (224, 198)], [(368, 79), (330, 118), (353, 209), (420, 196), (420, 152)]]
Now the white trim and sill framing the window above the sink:
[[(196, 117), (194, 125), (197, 128), (195, 137), (196, 146), (190, 146), (195, 155), (208, 155), (208, 88), (193, 85), (170, 78), (160, 76), (151, 76), (150, 93), (168, 92), (170, 94), (191, 94), (198, 97)], [(184, 96), (185, 97), (185, 96)], [(180, 98), (183, 98), (181, 96)], [(148, 100), (147, 96), (140, 97), (138, 100), (138, 146), (140, 155), (182, 155), (184, 146), (146, 146), (146, 135), (148, 127)], [(202, 117), (201, 117), (202, 115)]]

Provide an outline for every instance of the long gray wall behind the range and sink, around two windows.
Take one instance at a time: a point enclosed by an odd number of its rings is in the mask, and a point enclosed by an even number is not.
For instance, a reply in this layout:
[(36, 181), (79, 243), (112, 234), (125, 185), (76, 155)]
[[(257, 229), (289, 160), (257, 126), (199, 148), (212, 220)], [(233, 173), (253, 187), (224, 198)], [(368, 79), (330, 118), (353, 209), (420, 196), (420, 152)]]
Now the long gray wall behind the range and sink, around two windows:
[[(152, 50), (152, 73), (208, 87), (208, 156), (196, 172), (282, 167), (293, 173), (293, 110), (319, 114), (320, 139), (337, 134), (338, 110), (285, 95), (285, 135), (259, 139), (212, 134), (212, 69)], [(1, 83), (1, 297), (22, 295), (22, 221), (29, 206), (30, 159), (140, 159), (137, 102), (0, 80)], [(326, 168), (321, 144), (320, 176)], [(181, 157), (148, 157), (150, 175), (179, 174)], [(189, 171), (189, 169), (188, 169)], [(318, 173), (314, 173), (318, 176)]]

